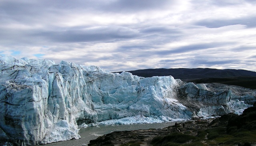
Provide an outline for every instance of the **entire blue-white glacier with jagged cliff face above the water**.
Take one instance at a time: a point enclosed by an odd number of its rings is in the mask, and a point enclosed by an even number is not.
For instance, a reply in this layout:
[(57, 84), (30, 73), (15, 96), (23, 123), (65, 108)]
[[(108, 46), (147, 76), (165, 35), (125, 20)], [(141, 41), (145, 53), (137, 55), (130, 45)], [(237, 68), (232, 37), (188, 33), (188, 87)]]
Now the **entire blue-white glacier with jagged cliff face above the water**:
[(134, 124), (241, 114), (256, 91), (172, 76), (138, 77), (97, 66), (0, 55), (0, 142), (80, 138), (78, 125)]

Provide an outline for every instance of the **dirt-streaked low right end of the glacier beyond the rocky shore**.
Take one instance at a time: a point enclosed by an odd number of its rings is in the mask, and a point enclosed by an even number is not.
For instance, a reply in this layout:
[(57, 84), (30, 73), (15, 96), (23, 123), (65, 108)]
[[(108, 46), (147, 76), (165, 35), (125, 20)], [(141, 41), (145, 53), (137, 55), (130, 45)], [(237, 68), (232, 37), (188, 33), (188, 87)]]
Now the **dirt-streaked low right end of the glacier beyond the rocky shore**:
[(242, 114), (256, 101), (256, 91), (218, 83), (187, 83), (179, 88), (179, 101), (197, 116)]

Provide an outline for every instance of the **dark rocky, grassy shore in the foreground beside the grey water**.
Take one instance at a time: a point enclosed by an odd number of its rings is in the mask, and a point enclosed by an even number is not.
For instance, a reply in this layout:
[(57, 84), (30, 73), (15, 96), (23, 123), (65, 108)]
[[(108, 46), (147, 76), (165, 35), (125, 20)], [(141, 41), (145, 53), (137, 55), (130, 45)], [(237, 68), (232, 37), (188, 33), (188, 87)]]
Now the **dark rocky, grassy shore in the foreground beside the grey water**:
[(88, 146), (256, 146), (256, 106), (243, 114), (194, 119), (162, 129), (112, 132)]

